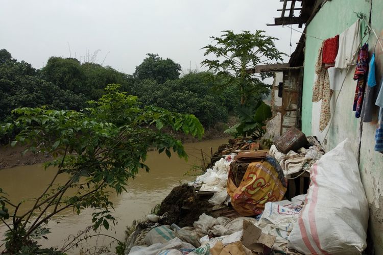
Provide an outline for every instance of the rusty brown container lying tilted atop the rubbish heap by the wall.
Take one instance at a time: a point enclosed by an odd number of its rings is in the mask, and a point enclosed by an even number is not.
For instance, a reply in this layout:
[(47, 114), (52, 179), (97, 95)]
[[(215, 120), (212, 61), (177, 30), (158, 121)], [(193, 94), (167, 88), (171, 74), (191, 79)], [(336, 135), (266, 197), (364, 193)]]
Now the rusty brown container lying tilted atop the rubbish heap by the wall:
[(306, 136), (295, 127), (292, 127), (274, 140), (275, 147), (284, 154), (287, 154), (290, 150), (297, 151), (306, 144)]

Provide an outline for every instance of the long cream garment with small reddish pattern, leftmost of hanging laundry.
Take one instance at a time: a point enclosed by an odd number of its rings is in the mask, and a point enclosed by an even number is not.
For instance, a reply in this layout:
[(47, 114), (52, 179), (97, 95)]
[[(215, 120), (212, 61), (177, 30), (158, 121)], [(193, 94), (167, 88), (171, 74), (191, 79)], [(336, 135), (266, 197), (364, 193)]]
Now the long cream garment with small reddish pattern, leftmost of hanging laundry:
[(319, 117), (319, 131), (323, 131), (331, 118), (330, 100), (332, 90), (330, 89), (330, 80), (328, 72), (322, 62), (324, 42), (319, 48), (318, 60), (315, 64), (315, 73), (317, 75), (313, 87), (313, 102), (318, 102), (322, 99), (321, 114)]

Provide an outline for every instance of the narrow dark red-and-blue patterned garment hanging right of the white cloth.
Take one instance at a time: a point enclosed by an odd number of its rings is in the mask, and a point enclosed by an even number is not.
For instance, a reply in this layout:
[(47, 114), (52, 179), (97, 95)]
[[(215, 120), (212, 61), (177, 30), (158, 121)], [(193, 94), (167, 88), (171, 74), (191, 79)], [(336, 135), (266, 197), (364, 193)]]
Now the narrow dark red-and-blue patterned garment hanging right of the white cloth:
[(355, 67), (354, 80), (357, 80), (354, 105), (352, 110), (355, 111), (355, 117), (359, 118), (362, 112), (363, 97), (365, 94), (366, 74), (368, 71), (368, 44), (365, 43), (359, 50), (358, 60)]

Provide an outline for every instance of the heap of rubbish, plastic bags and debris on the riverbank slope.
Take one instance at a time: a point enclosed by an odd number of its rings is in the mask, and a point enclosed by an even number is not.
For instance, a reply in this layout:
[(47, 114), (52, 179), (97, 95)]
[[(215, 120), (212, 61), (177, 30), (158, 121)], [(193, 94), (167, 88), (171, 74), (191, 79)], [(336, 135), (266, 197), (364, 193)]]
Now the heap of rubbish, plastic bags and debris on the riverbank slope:
[[(148, 215), (148, 219), (158, 221), (158, 223), (147, 222), (146, 225), (142, 223), (137, 225), (136, 231), (127, 240), (125, 254), (219, 255), (231, 252), (231, 254), (250, 255), (312, 252), (302, 246), (305, 245), (304, 240), (302, 241), (303, 234), (300, 234), (302, 222), (298, 223), (298, 221), (303, 220), (304, 222), (312, 219), (303, 215), (303, 212), (308, 211), (310, 215), (313, 213), (310, 211), (312, 206), (305, 207), (305, 202), (308, 202), (308, 205), (312, 203), (312, 189), (317, 185), (315, 183), (317, 180), (313, 180), (314, 184), (310, 185), (307, 195), (301, 194), (291, 200), (282, 200), (288, 184), (286, 177), (293, 173), (309, 171), (309, 167), (318, 160), (318, 166), (324, 167), (323, 162), (331, 162), (334, 160), (331, 157), (336, 156), (332, 156), (331, 152), (328, 155), (325, 154), (315, 138), (307, 137), (307, 141), (304, 147), (283, 154), (275, 145), (272, 145), (267, 151), (251, 151), (249, 149), (255, 147), (255, 142), (246, 141), (246, 139), (231, 139), (229, 144), (220, 146), (220, 153), (216, 153), (214, 163), (204, 174), (198, 176), (195, 182), (174, 188), (161, 203), (158, 216)], [(241, 148), (246, 148), (246, 150)], [(322, 157), (322, 155), (325, 156)], [(332, 165), (336, 165), (336, 163)], [(327, 168), (329, 167), (327, 165)], [(314, 169), (316, 168), (317, 165)], [(253, 171), (250, 176), (249, 169), (258, 170)], [(326, 171), (326, 169), (322, 171)], [(334, 169), (331, 168), (331, 171)], [(270, 178), (265, 179), (264, 172), (269, 174), (267, 176)], [(355, 181), (354, 188), (360, 188), (359, 186), (362, 184), (357, 183), (357, 180), (360, 182), (360, 177), (358, 179), (357, 176), (354, 176), (356, 172), (357, 168), (352, 171), (352, 176), (344, 177), (344, 179), (351, 178), (350, 180)], [(342, 175), (340, 172), (338, 174)], [(261, 176), (268, 185), (263, 184), (264, 186), (262, 186), (253, 183)], [(244, 194), (247, 192), (256, 196), (245, 196), (241, 192), (235, 196), (231, 191), (233, 185)], [(330, 191), (330, 186), (334, 184), (331, 180), (327, 180), (327, 184), (322, 185), (327, 185), (327, 189)], [(257, 190), (258, 187), (263, 190)], [(278, 187), (276, 189), (276, 192), (279, 192), (278, 196), (272, 195), (272, 189), (276, 187)], [(337, 189), (342, 190), (344, 187), (339, 186)], [(352, 187), (348, 189), (352, 190)], [(339, 191), (339, 193), (345, 195), (347, 192)], [(333, 195), (336, 196), (336, 194)], [(245, 213), (236, 203), (238, 198), (242, 199), (245, 207), (251, 209)], [(344, 199), (347, 200), (346, 197)], [(256, 206), (258, 203), (260, 206), (256, 207), (256, 210), (248, 206)], [(357, 201), (353, 202), (353, 205), (355, 203)], [(337, 211), (338, 209), (331, 210)], [(367, 206), (365, 210), (360, 209), (359, 212), (365, 213), (366, 210), (368, 212)], [(317, 224), (321, 222), (321, 225), (324, 226), (319, 229), (318, 235), (327, 240), (331, 237), (331, 233), (326, 231), (328, 227), (323, 220), (328, 219), (327, 215), (331, 215), (331, 212), (326, 211), (325, 208), (317, 212), (319, 215), (310, 217), (316, 217)], [(260, 215), (255, 217), (257, 214)], [(367, 226), (367, 223), (364, 222), (365, 219), (356, 217), (358, 213), (354, 213), (354, 215), (355, 217), (352, 215), (345, 215), (345, 217), (353, 219), (355, 222), (352, 224)], [(358, 221), (363, 222), (358, 223)], [(337, 225), (337, 222), (332, 222), (332, 224)], [(331, 239), (337, 241), (339, 238), (331, 237)], [(361, 234), (361, 240), (363, 239), (365, 240), (365, 236)], [(342, 242), (347, 243), (348, 241), (343, 240)], [(350, 242), (349, 245), (352, 246), (352, 241)], [(342, 243), (337, 245), (346, 247)], [(360, 252), (363, 247), (365, 246), (361, 244), (357, 250)], [(354, 251), (352, 248), (347, 250)]]

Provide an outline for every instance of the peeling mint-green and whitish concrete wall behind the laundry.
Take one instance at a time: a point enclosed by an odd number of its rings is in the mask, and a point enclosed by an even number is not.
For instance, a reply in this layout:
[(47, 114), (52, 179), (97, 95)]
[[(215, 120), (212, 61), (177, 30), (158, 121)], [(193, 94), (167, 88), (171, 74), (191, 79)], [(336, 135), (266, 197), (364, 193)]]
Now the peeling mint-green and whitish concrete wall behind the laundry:
[[(333, 93), (331, 111), (334, 109), (334, 101), (338, 95), (339, 99), (332, 116), (333, 123), (330, 130), (327, 127), (322, 133), (319, 132), (321, 101), (312, 102), (314, 66), (322, 41), (310, 36), (327, 39), (340, 34), (356, 21), (357, 17), (354, 12), (363, 12), (368, 17), (370, 8), (372, 10), (371, 27), (376, 30), (378, 35), (380, 34), (380, 38), (383, 38), (383, 1), (379, 0), (327, 1), (307, 25), (308, 36), (305, 47), (302, 95), (302, 131), (306, 135), (317, 136), (321, 141), (328, 131), (325, 141), (327, 150), (334, 148), (345, 138), (351, 140), (355, 156), (360, 159), (362, 182), (369, 201), (369, 231), (375, 244), (375, 253), (383, 254), (383, 154), (374, 151), (377, 113), (375, 111), (374, 121), (370, 123), (361, 123), (361, 119), (354, 117), (355, 113), (352, 111), (356, 86), (356, 82), (352, 79), (354, 67), (351, 67), (347, 74), (342, 90)], [(375, 42), (376, 38), (371, 34), (368, 38), (371, 54)], [(383, 52), (379, 46), (376, 47), (375, 55), (377, 82), (380, 84), (383, 74)]]

